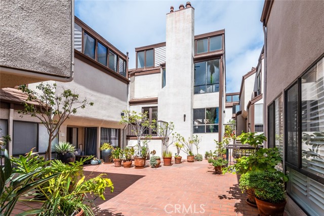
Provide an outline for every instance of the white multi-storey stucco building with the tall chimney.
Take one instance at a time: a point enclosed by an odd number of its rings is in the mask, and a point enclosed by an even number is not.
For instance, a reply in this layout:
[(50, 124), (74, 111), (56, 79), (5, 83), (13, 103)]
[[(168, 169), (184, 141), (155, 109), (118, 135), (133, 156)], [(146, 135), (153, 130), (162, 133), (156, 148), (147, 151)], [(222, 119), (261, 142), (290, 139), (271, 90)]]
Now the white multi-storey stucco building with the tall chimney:
[[(194, 35), (190, 3), (177, 11), (171, 7), (166, 19), (165, 43), (135, 49), (136, 68), (129, 71), (130, 109), (148, 112), (151, 120), (174, 122), (174, 131), (185, 138), (197, 134), (203, 154), (213, 150), (214, 139), (223, 134), (225, 30)], [(152, 135), (151, 148), (160, 155), (161, 141)], [(135, 141), (128, 136), (128, 145)]]

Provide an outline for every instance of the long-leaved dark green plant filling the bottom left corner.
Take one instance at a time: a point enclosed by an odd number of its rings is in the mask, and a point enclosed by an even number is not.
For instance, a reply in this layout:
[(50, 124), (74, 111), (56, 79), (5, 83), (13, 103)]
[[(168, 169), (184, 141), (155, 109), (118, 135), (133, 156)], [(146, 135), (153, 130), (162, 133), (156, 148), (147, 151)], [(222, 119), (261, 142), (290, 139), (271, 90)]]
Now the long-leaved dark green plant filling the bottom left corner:
[[(42, 177), (45, 172), (42, 166), (48, 161), (44, 162), (44, 160), (40, 159), (40, 163), (35, 163), (37, 157), (34, 157), (34, 154), (31, 150), (25, 157), (20, 156), (11, 161), (8, 151), (5, 150), (5, 166), (0, 168), (0, 215), (10, 215), (20, 197), (31, 193), (35, 188), (60, 174), (57, 172)], [(13, 168), (11, 163), (14, 163), (17, 168)], [(32, 209), (20, 214), (29, 215), (41, 211), (42, 209)]]

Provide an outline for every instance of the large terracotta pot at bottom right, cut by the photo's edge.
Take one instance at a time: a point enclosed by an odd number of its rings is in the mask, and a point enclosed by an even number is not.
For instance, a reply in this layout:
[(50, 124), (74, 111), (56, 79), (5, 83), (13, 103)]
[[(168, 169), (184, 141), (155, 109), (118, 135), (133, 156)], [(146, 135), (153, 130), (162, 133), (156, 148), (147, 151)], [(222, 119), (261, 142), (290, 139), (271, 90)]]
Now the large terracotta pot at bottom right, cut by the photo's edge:
[(287, 201), (281, 203), (271, 203), (255, 198), (260, 216), (282, 216), (284, 215)]

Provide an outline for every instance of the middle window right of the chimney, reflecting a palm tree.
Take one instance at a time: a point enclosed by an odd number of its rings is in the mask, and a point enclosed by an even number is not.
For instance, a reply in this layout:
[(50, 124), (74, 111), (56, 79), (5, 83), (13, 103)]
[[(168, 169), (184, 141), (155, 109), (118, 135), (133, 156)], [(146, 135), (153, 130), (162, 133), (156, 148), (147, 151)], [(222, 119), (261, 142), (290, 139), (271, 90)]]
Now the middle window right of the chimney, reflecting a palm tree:
[(219, 91), (219, 59), (194, 64), (194, 94)]

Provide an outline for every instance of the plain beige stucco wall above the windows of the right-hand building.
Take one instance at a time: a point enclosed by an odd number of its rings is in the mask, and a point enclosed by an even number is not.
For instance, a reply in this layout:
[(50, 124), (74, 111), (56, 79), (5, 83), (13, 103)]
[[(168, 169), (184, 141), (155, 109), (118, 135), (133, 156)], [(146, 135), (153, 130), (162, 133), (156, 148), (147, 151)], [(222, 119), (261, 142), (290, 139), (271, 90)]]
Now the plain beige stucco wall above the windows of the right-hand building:
[(324, 53), (323, 11), (323, 1), (274, 1), (267, 23), (267, 105)]

